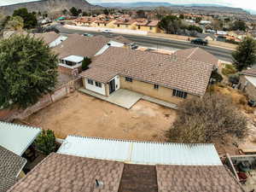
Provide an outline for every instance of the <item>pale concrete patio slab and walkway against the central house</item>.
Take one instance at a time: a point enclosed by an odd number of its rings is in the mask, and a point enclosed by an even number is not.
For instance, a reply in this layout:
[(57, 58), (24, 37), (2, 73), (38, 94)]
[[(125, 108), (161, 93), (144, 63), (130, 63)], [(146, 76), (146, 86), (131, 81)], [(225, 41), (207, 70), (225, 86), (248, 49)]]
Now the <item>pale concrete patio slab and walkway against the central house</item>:
[(143, 94), (133, 92), (131, 90), (119, 89), (113, 92), (110, 96), (102, 96), (93, 92), (91, 90), (85, 90), (84, 88), (79, 89), (80, 92), (88, 94), (90, 96), (95, 96), (98, 99), (102, 99), (106, 102), (111, 102), (118, 105), (119, 107), (130, 109), (135, 105), (140, 99), (143, 98)]

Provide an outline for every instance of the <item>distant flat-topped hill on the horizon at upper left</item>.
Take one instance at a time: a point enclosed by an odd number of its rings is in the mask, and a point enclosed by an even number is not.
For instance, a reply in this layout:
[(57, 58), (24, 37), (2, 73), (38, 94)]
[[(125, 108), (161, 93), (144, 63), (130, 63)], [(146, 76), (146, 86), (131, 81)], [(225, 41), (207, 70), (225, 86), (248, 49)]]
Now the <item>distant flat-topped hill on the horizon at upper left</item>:
[(58, 11), (63, 9), (71, 9), (75, 7), (77, 9), (87, 10), (98, 8), (96, 5), (92, 5), (85, 0), (41, 0), (28, 3), (16, 3), (7, 6), (1, 6), (0, 12), (6, 15), (12, 15), (15, 9), (26, 8), (29, 11)]

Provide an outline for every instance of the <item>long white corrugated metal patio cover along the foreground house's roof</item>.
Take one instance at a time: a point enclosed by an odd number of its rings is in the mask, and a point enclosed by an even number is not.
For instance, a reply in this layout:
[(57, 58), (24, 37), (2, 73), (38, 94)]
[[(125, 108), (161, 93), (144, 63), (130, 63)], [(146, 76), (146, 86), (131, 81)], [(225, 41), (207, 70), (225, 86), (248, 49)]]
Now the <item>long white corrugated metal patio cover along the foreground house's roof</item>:
[(143, 165), (222, 165), (213, 144), (147, 143), (68, 136), (58, 153)]

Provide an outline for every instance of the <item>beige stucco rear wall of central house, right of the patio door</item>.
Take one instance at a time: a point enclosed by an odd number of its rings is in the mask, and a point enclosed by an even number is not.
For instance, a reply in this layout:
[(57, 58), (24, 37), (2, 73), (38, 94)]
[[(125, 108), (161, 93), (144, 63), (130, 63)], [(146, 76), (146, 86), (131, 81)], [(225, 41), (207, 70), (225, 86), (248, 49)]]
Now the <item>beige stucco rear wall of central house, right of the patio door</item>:
[[(125, 77), (120, 76), (120, 84), (121, 89), (133, 90), (146, 96), (152, 96), (166, 102), (178, 104), (184, 100), (183, 98), (172, 96), (172, 89), (159, 86), (159, 89), (155, 90), (154, 84), (138, 81), (136, 79), (133, 79), (132, 82), (127, 82), (125, 81)], [(193, 95), (188, 94), (187, 99), (190, 97), (193, 97)]]

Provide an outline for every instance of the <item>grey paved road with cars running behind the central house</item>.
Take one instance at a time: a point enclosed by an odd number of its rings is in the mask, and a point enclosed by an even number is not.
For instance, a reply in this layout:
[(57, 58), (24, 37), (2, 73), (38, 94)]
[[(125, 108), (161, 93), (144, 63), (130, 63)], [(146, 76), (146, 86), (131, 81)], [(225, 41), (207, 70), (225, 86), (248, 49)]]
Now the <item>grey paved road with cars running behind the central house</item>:
[[(75, 29), (67, 29), (63, 26), (56, 26), (61, 33), (63, 34), (71, 34), (71, 33), (79, 33), (82, 34), (84, 31), (81, 30), (75, 30)], [(103, 32), (88, 32), (90, 34), (94, 35), (103, 35), (103, 36), (109, 36), (108, 33)], [(120, 34), (112, 33), (113, 37), (119, 36)], [(183, 42), (183, 41), (176, 41), (166, 38), (152, 38), (147, 36), (137, 36), (137, 35), (128, 35), (128, 34), (121, 34), (123, 37), (130, 39), (131, 41), (146, 47), (152, 47), (156, 49), (188, 49), (193, 47), (201, 47), (202, 49), (207, 50), (208, 52), (212, 53), (212, 55), (216, 55), (220, 60), (223, 61), (232, 61), (231, 52), (230, 49), (224, 49), (224, 48), (218, 48), (218, 47), (212, 47), (212, 46), (201, 46), (201, 45), (195, 45), (190, 44), (189, 42)]]

